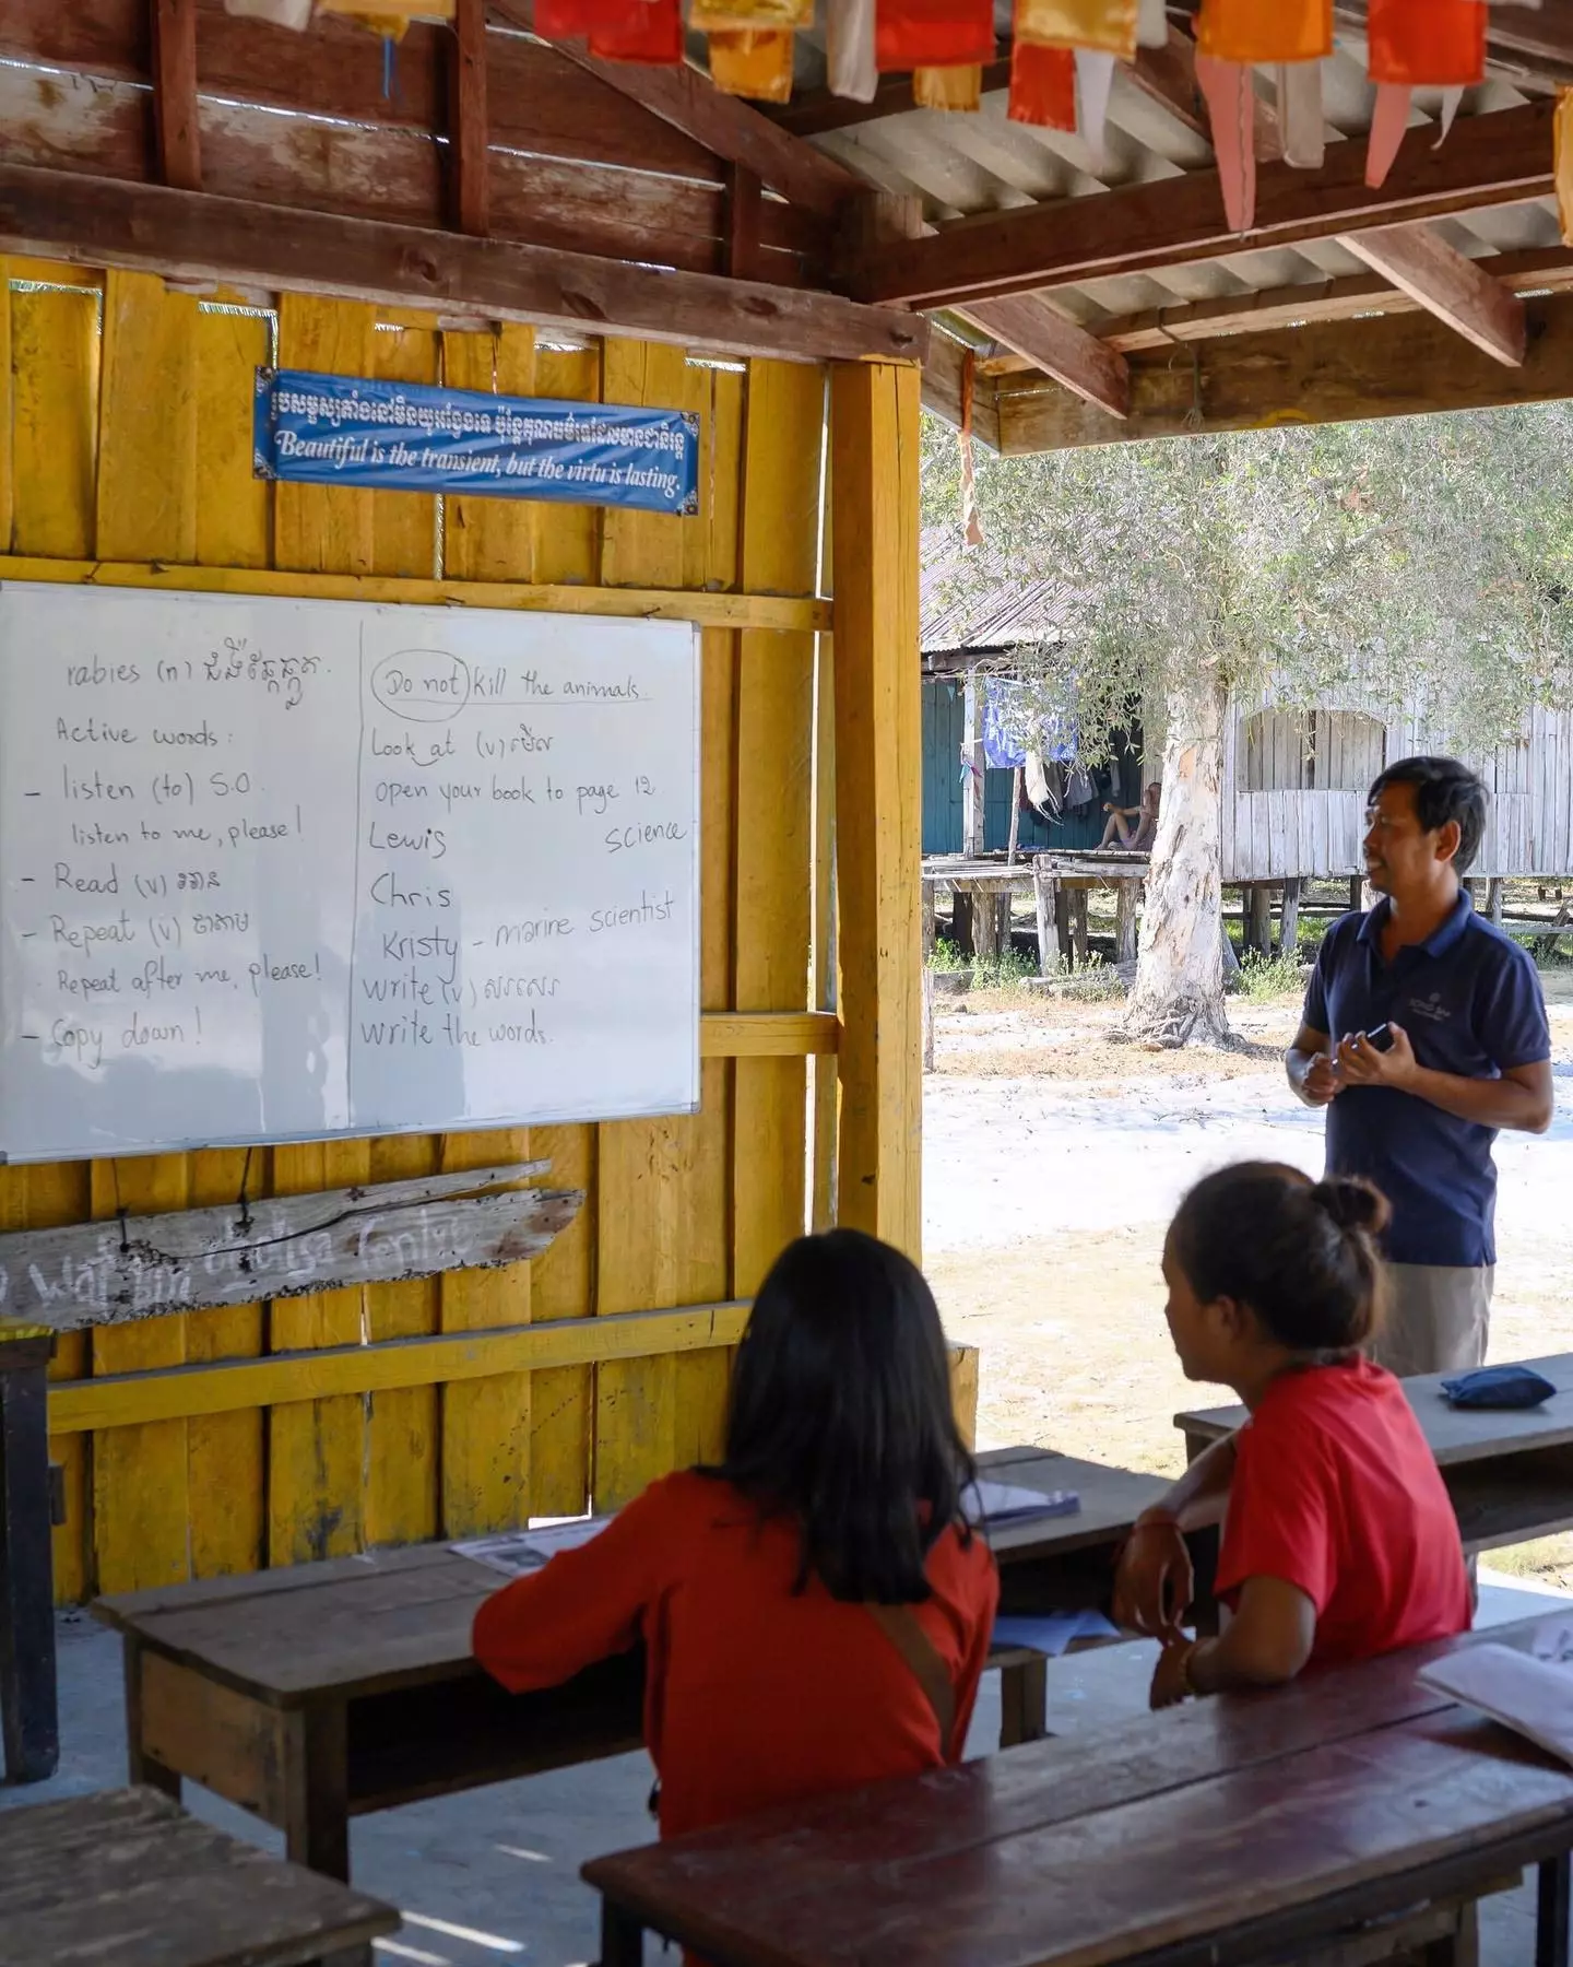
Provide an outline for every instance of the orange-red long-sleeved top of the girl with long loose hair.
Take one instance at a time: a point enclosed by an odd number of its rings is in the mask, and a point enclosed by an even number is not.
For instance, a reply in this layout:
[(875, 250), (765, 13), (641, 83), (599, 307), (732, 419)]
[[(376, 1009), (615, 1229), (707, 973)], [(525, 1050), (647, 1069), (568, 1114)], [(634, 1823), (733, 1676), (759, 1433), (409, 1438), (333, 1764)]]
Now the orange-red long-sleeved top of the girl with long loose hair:
[(814, 1578), (794, 1593), (798, 1562), (790, 1522), (761, 1524), (728, 1483), (667, 1475), (592, 1542), (490, 1597), (476, 1658), (525, 1694), (643, 1639), (645, 1743), (672, 1837), (960, 1760), (999, 1599), (983, 1540), (946, 1530), (928, 1554), (934, 1595), (912, 1607), (956, 1688), (948, 1743), (867, 1607)]

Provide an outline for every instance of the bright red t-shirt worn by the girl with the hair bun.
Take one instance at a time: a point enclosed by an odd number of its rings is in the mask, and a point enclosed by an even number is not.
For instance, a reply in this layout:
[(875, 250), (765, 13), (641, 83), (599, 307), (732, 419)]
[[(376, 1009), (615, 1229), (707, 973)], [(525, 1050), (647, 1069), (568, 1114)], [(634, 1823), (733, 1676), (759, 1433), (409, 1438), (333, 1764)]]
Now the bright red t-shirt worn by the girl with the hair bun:
[(1310, 1597), (1313, 1666), (1469, 1631), (1459, 1524), (1392, 1373), (1361, 1359), (1272, 1381), (1237, 1436), (1219, 1597), (1247, 1578)]

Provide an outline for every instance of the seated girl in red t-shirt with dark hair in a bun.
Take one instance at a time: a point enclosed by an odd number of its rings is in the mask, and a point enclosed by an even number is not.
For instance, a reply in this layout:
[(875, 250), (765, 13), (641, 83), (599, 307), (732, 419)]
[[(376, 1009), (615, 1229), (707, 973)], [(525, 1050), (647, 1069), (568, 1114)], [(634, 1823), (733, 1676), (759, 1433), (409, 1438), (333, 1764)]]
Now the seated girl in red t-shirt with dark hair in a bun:
[[(1278, 1686), (1469, 1629), (1459, 1526), (1400, 1383), (1363, 1347), (1382, 1316), (1388, 1204), (1357, 1178), (1253, 1161), (1186, 1196), (1164, 1245), (1186, 1379), (1251, 1418), (1136, 1519), (1115, 1617), (1162, 1642), (1152, 1705)], [(1186, 1530), (1223, 1520), (1221, 1639), (1182, 1629)]]

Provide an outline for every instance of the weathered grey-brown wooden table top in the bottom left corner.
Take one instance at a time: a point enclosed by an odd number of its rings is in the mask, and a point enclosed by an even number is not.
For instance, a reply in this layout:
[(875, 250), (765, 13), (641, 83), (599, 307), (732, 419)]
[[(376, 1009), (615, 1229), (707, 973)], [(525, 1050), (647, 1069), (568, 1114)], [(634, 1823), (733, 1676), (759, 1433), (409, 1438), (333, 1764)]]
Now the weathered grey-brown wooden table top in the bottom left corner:
[(397, 1926), (155, 1790), (0, 1810), (0, 1967), (299, 1967)]

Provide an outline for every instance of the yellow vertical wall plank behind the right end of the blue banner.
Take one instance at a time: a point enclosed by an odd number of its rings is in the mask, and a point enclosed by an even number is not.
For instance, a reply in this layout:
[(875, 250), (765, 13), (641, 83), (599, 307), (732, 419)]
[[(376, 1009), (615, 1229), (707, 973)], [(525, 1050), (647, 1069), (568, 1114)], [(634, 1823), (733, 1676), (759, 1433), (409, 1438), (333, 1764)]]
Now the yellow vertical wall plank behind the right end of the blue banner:
[[(698, 409), (706, 370), (680, 348), (608, 340), (604, 397)], [(684, 531), (684, 527), (688, 531)], [(702, 521), (608, 511), (602, 580), (608, 586), (698, 586), (708, 565)], [(729, 1275), (729, 1072), (702, 1066), (700, 1111), (600, 1129), (598, 1310), (696, 1304), (724, 1292)], [(692, 1361), (639, 1359), (596, 1369), (594, 1501), (615, 1509), (657, 1475), (704, 1452), (720, 1414)], [(704, 1367), (700, 1367), (704, 1373)]]

